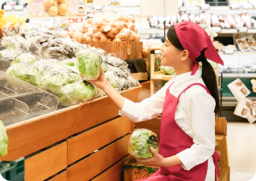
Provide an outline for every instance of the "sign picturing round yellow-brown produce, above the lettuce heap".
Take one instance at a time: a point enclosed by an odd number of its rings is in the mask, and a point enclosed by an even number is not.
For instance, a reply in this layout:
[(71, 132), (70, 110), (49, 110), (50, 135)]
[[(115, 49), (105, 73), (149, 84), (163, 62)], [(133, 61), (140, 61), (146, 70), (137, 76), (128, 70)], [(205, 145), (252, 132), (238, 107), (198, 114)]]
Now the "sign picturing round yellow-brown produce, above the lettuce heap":
[(29, 18), (86, 17), (87, 0), (30, 0)]

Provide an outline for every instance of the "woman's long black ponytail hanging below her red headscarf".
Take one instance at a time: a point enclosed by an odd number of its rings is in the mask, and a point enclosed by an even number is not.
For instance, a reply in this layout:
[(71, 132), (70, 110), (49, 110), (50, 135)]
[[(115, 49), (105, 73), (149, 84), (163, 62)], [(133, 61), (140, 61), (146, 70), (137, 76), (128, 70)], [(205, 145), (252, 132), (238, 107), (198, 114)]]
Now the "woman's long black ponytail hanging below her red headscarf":
[(214, 113), (216, 117), (219, 115), (220, 111), (220, 100), (219, 100), (219, 92), (217, 90), (217, 80), (214, 72), (214, 68), (212, 68), (211, 64), (207, 61), (204, 56), (204, 50), (201, 51), (201, 55), (196, 58), (197, 62), (202, 62), (202, 79), (204, 84), (206, 84), (207, 89), (210, 91), (212, 97), (214, 97), (216, 106)]

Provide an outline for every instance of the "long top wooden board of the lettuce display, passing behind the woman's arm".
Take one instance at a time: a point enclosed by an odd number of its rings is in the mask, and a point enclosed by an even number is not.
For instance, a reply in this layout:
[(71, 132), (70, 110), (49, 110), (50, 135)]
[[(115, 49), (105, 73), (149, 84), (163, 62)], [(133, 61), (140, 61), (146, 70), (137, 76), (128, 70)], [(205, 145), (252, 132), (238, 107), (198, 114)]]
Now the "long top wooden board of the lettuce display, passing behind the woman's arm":
[[(136, 101), (141, 86), (120, 92)], [(118, 116), (118, 108), (108, 96), (67, 107), (40, 117), (6, 126), (8, 154), (1, 160), (16, 160)]]

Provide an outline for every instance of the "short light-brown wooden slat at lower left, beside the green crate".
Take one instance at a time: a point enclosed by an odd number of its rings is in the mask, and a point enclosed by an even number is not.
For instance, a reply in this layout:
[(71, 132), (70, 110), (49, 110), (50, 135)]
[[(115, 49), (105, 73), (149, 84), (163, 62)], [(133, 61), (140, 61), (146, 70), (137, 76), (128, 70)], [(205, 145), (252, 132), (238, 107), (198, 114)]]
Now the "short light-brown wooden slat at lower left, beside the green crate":
[(67, 142), (25, 160), (25, 180), (41, 181), (67, 167)]

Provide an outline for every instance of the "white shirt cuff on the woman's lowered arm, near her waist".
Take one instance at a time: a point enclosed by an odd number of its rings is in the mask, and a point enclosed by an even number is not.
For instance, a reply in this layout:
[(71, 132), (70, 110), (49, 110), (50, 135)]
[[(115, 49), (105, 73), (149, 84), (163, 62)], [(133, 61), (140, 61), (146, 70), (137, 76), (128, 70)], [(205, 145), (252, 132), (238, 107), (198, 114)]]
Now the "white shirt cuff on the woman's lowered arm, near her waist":
[(194, 166), (197, 165), (197, 158), (194, 156), (194, 154), (190, 151), (190, 149), (185, 149), (182, 152), (176, 154), (176, 156), (180, 159), (182, 162), (182, 168), (184, 170), (191, 170)]

